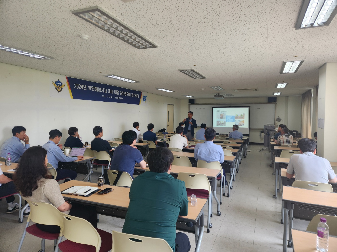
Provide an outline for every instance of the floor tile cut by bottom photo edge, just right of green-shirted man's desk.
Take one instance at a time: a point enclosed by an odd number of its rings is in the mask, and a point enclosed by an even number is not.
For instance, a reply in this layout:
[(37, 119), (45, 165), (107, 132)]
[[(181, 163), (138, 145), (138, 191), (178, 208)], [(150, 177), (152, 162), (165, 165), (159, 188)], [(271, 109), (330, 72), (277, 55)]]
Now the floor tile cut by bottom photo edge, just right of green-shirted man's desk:
[(211, 252), (252, 252), (253, 244), (233, 239), (217, 237)]

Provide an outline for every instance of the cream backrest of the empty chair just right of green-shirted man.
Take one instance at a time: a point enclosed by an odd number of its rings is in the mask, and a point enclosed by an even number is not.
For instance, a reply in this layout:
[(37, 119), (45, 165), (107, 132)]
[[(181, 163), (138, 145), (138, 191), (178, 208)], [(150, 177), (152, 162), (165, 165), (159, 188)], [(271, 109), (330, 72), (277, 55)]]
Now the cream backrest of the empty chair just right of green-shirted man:
[(178, 179), (185, 182), (186, 188), (207, 190), (209, 194), (212, 192), (210, 181), (205, 174), (179, 172)]

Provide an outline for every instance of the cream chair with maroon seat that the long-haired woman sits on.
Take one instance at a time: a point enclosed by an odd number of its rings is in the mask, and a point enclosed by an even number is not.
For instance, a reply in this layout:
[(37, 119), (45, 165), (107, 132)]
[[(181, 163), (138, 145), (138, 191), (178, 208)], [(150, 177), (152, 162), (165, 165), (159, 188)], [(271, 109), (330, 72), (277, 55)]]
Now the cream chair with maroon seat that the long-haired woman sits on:
[[(40, 252), (42, 251), (44, 252), (45, 250), (45, 240), (54, 240), (54, 250), (55, 252), (57, 252), (58, 245), (62, 240), (62, 230), (63, 230), (63, 219), (61, 212), (56, 207), (54, 207), (52, 204), (49, 203), (28, 201), (28, 204), (30, 206), (30, 214), (27, 219), (27, 224), (19, 243), (18, 252), (20, 252), (21, 250), (27, 232), (33, 236), (42, 239), (41, 250), (39, 250)], [(33, 221), (38, 224), (56, 225), (60, 227), (61, 231), (60, 233), (56, 234), (44, 232), (40, 230), (36, 226), (36, 224), (29, 226), (30, 221)]]

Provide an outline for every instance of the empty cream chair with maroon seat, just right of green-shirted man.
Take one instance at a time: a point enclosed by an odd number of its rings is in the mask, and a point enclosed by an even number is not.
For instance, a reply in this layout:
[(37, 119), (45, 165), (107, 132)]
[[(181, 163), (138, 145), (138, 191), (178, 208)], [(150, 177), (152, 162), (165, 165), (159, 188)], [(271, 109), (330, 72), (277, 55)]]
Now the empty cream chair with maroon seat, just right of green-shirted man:
[(188, 197), (194, 194), (197, 198), (208, 199), (207, 233), (209, 233), (212, 227), (212, 190), (208, 177), (205, 174), (179, 172), (178, 179), (185, 182)]

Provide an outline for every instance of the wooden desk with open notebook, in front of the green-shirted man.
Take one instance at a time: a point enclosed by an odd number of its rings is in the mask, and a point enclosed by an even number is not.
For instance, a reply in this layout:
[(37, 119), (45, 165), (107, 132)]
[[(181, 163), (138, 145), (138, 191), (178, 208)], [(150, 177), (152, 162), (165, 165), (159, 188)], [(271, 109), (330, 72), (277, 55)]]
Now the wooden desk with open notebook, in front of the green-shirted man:
[[(60, 184), (61, 192), (66, 190), (71, 186), (93, 186), (97, 187), (97, 183), (71, 180)], [(89, 196), (75, 196), (69, 194), (62, 194), (63, 198), (66, 200), (70, 200), (73, 202), (78, 202), (82, 204), (92, 205), (97, 208), (97, 213), (104, 214), (108, 216), (113, 216), (117, 218), (125, 219), (127, 208), (129, 206), (129, 191), (128, 187), (114, 186), (114, 185), (106, 185), (104, 184), (100, 189), (104, 188), (113, 188), (114, 191), (98, 195), (97, 193)], [(207, 200), (198, 198), (198, 204), (195, 207), (191, 206), (191, 200), (188, 197), (188, 215), (182, 217), (181, 219), (184, 222), (177, 222), (176, 228), (178, 230), (182, 230), (184, 232), (189, 232), (195, 234), (195, 252), (200, 250), (201, 241), (204, 234), (204, 212), (203, 207), (205, 206)], [(140, 213), (141, 214), (141, 213)], [(192, 227), (187, 227), (186, 222), (192, 222), (194, 225)]]

